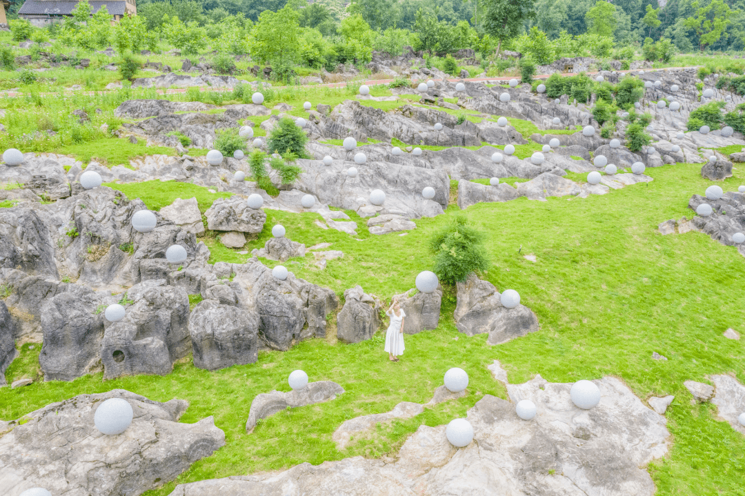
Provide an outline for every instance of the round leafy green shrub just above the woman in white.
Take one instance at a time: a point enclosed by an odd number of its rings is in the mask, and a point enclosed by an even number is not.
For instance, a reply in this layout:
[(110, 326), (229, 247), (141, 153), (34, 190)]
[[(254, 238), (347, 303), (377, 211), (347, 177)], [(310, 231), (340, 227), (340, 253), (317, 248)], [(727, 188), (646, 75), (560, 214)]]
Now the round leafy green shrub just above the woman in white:
[(429, 244), (434, 254), (434, 273), (445, 284), (463, 282), (469, 273), (489, 267), (484, 233), (469, 226), (466, 217), (455, 217)]

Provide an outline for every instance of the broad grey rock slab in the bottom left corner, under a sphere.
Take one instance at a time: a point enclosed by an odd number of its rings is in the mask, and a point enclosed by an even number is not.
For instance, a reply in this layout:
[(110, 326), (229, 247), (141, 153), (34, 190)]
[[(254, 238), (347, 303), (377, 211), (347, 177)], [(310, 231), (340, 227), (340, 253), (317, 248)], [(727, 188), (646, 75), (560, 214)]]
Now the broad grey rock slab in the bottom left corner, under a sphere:
[[(102, 434), (93, 423), (108, 398), (124, 398), (134, 413), (132, 425), (116, 436)], [(225, 445), (225, 433), (211, 416), (196, 424), (177, 422), (187, 406), (125, 390), (50, 404), (10, 422), (12, 430), (0, 437), (0, 486), (10, 495), (32, 487), (53, 495), (140, 495)]]

